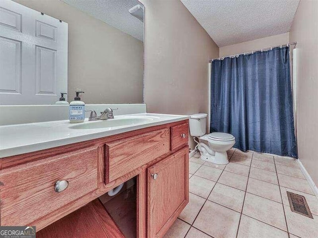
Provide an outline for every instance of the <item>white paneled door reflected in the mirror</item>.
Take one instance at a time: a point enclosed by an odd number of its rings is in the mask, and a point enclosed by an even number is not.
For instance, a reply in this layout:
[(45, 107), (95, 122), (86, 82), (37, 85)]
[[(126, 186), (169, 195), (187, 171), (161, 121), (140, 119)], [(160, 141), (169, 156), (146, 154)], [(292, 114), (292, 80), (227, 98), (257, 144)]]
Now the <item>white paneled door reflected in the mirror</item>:
[(68, 24), (0, 0), (0, 105), (54, 104), (67, 81)]

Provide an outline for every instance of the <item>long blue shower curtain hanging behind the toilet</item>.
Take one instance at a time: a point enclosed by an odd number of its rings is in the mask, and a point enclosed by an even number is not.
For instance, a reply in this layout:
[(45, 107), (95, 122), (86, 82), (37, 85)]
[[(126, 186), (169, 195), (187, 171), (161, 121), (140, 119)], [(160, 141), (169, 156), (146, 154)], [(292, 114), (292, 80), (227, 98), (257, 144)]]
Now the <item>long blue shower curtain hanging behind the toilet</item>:
[(212, 62), (211, 132), (235, 148), (297, 158), (289, 47)]

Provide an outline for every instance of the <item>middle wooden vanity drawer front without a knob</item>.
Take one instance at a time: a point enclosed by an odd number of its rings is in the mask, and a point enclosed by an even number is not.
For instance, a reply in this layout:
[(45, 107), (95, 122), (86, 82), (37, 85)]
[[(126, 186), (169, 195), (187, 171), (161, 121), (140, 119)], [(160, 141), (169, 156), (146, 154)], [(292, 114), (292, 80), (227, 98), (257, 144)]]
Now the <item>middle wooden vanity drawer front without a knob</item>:
[(168, 153), (169, 147), (169, 128), (106, 143), (105, 182), (118, 179)]

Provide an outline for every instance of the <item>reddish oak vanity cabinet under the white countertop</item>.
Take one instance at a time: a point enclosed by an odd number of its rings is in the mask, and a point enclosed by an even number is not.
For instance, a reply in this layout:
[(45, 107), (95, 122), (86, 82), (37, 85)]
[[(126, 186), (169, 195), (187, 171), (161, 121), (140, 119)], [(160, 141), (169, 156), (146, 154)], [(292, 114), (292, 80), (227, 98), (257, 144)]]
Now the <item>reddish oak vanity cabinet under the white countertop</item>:
[(160, 238), (189, 200), (188, 150), (182, 120), (0, 158), (0, 225), (38, 232), (136, 177), (137, 237)]

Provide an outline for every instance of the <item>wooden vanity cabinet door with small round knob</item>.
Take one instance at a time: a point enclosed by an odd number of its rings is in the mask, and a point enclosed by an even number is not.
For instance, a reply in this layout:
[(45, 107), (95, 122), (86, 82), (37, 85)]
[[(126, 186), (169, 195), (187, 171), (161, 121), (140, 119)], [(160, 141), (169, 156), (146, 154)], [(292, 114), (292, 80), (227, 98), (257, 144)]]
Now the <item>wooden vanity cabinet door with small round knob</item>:
[(188, 173), (188, 147), (148, 168), (148, 238), (162, 237), (188, 203)]

